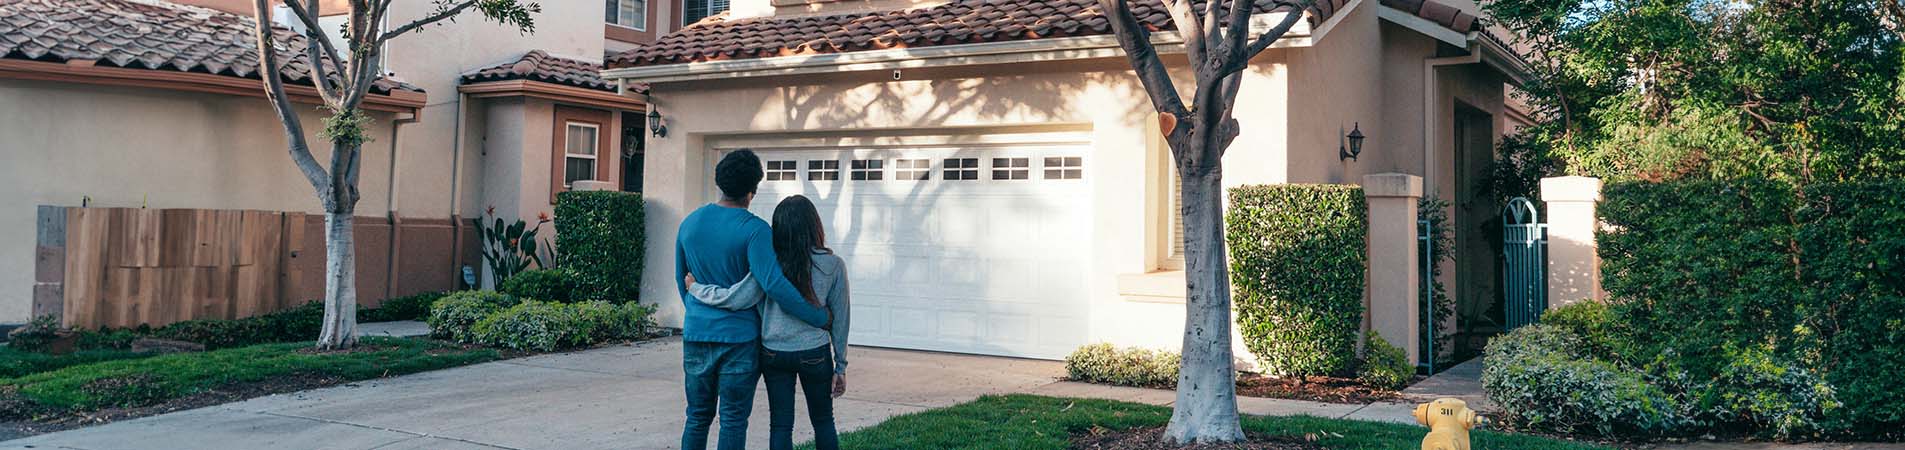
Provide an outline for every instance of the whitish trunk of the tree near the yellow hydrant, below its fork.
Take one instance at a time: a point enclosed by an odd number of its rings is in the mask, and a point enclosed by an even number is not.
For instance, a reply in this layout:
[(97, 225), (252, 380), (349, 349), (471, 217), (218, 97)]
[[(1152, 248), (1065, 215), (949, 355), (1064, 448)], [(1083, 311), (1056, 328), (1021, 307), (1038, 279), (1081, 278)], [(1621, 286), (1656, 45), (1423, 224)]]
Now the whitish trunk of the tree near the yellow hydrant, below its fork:
[(1185, 339), (1177, 404), (1164, 439), (1238, 442), (1236, 366), (1231, 360), (1231, 271), (1223, 252), (1223, 168), (1181, 177), (1185, 223)]

